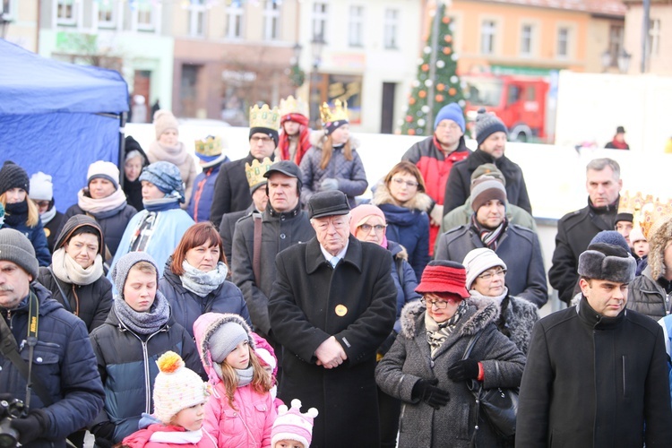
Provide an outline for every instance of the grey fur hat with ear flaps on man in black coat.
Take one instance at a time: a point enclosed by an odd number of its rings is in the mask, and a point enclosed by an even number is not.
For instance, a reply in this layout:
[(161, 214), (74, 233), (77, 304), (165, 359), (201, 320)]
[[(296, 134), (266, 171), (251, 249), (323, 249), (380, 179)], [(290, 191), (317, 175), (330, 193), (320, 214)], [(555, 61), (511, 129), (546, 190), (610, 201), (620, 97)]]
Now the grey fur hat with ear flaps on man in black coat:
[(579, 255), (579, 275), (595, 280), (630, 283), (637, 263), (621, 246), (596, 243)]

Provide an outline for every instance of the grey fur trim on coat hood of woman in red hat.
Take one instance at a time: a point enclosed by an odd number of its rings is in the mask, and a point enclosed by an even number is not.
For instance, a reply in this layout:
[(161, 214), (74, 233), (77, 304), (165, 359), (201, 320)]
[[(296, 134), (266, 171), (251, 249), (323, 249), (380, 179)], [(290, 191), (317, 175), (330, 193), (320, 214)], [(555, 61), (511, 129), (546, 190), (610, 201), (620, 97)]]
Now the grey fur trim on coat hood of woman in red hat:
[[(426, 306), (415, 300), (409, 302), (401, 310), (401, 334), (407, 339), (415, 339), (419, 329), (425, 322)], [(494, 322), (499, 316), (499, 307), (489, 303), (481, 308), (470, 304), (469, 310), (461, 319), (460, 335), (471, 336), (486, 328), (488, 323)], [(423, 334), (424, 338), (425, 335)]]

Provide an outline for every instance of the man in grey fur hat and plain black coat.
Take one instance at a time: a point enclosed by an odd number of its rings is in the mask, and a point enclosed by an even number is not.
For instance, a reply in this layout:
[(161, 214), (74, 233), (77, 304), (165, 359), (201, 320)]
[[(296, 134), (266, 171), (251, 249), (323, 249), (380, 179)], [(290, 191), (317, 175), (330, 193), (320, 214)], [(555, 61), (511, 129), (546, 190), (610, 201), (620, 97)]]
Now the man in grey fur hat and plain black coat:
[(577, 306), (532, 332), (516, 446), (669, 446), (672, 410), (662, 327), (625, 309), (636, 263), (595, 243), (579, 257)]

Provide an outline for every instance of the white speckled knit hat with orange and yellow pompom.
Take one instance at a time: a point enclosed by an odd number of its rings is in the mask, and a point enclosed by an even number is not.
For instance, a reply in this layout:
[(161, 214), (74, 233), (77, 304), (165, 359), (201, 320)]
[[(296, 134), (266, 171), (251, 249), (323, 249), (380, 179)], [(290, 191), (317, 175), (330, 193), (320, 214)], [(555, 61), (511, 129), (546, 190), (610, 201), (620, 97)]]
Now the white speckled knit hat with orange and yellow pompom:
[(159, 375), (154, 381), (154, 416), (168, 425), (182, 409), (208, 398), (208, 385), (174, 351), (167, 351), (156, 362)]

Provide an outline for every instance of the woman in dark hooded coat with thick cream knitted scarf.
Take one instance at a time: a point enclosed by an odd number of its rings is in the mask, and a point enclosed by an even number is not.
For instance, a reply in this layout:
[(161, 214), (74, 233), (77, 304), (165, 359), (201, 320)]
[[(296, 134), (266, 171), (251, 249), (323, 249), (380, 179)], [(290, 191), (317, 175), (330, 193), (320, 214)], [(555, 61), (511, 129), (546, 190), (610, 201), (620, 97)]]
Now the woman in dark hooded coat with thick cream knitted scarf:
[(56, 239), (51, 265), (39, 268), (38, 281), (89, 332), (105, 322), (112, 307), (112, 283), (103, 271), (104, 241), (96, 220), (74, 215)]

